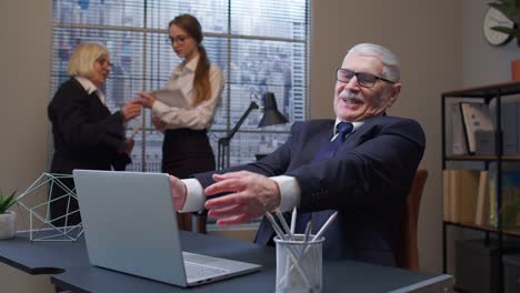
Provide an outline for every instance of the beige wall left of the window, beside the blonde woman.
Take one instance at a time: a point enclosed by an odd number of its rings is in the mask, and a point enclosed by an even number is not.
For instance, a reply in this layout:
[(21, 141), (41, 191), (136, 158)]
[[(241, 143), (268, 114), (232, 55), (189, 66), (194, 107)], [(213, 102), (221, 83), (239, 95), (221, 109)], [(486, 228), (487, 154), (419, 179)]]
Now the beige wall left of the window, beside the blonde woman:
[[(51, 1), (0, 1), (0, 189), (22, 191), (47, 169)], [(0, 264), (2, 292), (53, 292), (47, 275)]]

